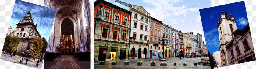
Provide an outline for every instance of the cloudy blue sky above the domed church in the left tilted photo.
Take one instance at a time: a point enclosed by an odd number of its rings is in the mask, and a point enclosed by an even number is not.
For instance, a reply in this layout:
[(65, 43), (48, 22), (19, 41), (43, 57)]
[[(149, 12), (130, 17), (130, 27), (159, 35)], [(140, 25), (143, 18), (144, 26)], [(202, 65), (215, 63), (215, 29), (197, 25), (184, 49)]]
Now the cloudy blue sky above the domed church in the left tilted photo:
[(46, 40), (48, 40), (56, 9), (16, 0), (9, 26), (12, 26), (12, 29), (15, 30), (17, 27), (16, 24), (18, 24), (19, 21), (23, 19), (29, 9), (31, 9), (30, 13), (32, 18), (34, 18), (34, 25), (37, 23), (37, 31), (40, 32), (41, 37), (44, 37)]

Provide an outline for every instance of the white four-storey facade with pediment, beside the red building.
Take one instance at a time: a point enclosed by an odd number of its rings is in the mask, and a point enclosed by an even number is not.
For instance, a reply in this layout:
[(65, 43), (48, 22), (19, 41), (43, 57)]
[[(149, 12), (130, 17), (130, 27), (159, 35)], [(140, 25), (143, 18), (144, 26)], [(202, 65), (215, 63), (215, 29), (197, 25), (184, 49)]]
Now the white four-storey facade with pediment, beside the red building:
[(148, 56), (152, 58), (155, 51), (150, 51), (149, 54), (147, 52), (149, 47), (150, 13), (142, 6), (132, 5), (131, 16), (131, 39), (129, 48), (131, 50), (129, 51), (131, 59), (148, 58)]

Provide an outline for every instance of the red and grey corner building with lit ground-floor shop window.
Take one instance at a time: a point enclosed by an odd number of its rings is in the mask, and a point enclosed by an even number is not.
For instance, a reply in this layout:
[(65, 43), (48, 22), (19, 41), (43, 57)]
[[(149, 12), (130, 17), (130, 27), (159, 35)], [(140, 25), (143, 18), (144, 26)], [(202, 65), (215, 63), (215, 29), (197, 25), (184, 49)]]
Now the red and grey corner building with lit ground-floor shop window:
[(124, 2), (94, 2), (95, 61), (128, 60), (131, 13)]

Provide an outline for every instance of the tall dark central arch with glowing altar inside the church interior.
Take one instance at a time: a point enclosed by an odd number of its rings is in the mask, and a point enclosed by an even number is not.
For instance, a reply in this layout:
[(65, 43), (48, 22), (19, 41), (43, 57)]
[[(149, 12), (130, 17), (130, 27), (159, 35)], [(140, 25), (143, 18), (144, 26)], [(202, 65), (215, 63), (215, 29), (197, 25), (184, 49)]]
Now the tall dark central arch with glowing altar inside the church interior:
[(75, 52), (74, 41), (74, 25), (73, 21), (69, 18), (65, 18), (61, 23), (61, 41), (63, 47), (60, 50), (62, 54), (72, 55)]

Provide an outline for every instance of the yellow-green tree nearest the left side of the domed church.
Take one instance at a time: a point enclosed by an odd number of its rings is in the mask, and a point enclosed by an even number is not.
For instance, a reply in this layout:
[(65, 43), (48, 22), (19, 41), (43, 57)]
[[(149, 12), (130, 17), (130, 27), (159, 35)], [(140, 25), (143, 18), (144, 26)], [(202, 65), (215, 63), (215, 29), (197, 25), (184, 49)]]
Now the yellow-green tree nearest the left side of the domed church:
[(15, 52), (17, 50), (19, 38), (17, 36), (11, 37), (11, 51)]

